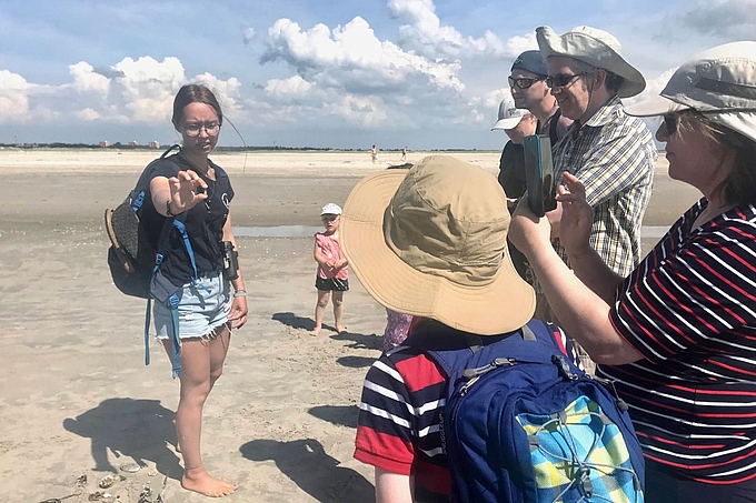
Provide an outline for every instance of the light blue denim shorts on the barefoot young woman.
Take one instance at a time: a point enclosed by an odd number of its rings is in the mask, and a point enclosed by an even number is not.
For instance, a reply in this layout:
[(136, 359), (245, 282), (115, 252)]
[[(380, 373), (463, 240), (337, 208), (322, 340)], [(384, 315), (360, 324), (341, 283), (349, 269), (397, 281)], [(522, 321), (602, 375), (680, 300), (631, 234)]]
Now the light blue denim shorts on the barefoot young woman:
[[(199, 278), (176, 292), (179, 295), (179, 339), (213, 339), (216, 330), (228, 321), (231, 295), (222, 274)], [(158, 339), (168, 339), (170, 309), (155, 302), (155, 328)]]

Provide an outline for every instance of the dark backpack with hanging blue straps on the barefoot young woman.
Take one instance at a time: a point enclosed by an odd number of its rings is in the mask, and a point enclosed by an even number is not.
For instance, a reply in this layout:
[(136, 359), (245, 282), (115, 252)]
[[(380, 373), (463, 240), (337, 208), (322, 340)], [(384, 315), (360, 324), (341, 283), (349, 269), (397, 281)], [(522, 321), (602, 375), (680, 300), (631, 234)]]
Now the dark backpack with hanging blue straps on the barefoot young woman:
[(191, 266), (195, 270), (192, 281), (197, 278), (195, 253), (183, 225), (187, 212), (166, 219), (160, 230), (157, 249), (150, 243), (148, 230), (140, 219), (145, 198), (148, 197), (149, 184), (158, 163), (166, 160), (170, 161), (176, 168), (176, 173), (183, 169), (172, 159), (175, 154), (171, 154), (171, 152), (173, 150), (180, 150), (179, 145), (170, 147), (158, 159), (147, 164), (139, 175), (136, 187), (129, 192), (123, 202), (115, 210), (105, 210), (105, 228), (111, 243), (108, 249), (108, 268), (110, 269), (113, 284), (127, 295), (147, 299), (147, 311), (145, 313), (146, 365), (150, 364), (149, 328), (151, 300), (155, 299), (171, 310), (171, 360), (173, 376), (176, 378), (181, 375), (177, 311), (179, 303), (177, 291), (179, 289), (160, 274), (159, 269), (163, 259), (162, 252), (168, 249), (170, 233), (172, 230), (177, 230), (181, 234)]

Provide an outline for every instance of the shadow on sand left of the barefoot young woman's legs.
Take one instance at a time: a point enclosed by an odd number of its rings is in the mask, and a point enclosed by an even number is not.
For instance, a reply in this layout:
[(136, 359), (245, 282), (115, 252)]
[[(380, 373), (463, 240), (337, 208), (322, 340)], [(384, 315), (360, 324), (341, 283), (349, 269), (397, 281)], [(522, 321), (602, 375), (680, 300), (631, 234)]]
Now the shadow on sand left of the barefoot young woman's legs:
[(159, 400), (109, 399), (76, 419), (66, 419), (63, 427), (77, 435), (91, 439), (94, 470), (118, 472), (108, 461), (108, 450), (127, 464), (133, 460), (140, 466), (152, 461), (158, 472), (180, 480), (183, 469), (179, 459), (168, 449), (176, 446), (173, 412), (160, 405)]

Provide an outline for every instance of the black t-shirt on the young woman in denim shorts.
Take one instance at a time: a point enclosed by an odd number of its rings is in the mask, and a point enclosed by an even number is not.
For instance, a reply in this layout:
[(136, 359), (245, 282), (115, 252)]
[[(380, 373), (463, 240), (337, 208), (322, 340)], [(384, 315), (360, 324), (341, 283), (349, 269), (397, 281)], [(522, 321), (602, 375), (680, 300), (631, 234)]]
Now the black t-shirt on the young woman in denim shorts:
[[(210, 163), (215, 170), (216, 180), (202, 175), (179, 155), (171, 155), (160, 161), (152, 173), (152, 178), (170, 178), (175, 177), (179, 170), (192, 169), (208, 184), (208, 199), (189, 210), (186, 218), (180, 219), (186, 225), (187, 235), (195, 253), (197, 273), (200, 275), (219, 273), (223, 269), (223, 225), (228, 218), (229, 203), (233, 199), (233, 189), (228, 174), (216, 163)], [(168, 219), (156, 211), (149, 188), (145, 198), (141, 219), (150, 231), (152, 245), (157, 249), (162, 224)], [(191, 261), (181, 234), (177, 229), (173, 228), (170, 231), (169, 249), (159, 250), (159, 252), (163, 254), (160, 271), (171, 283), (176, 286), (182, 286), (191, 280), (195, 271), (191, 268)]]

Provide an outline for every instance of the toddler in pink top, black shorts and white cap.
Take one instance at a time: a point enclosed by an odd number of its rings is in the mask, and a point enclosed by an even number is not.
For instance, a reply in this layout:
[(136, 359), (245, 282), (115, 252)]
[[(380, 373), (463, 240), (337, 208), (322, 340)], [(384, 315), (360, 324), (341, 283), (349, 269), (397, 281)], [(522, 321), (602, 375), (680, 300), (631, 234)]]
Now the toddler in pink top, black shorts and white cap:
[(315, 261), (318, 262), (318, 275), (315, 288), (318, 289), (318, 303), (315, 306), (315, 329), (310, 335), (319, 335), (322, 329), (322, 318), (330, 293), (334, 292), (334, 321), (336, 331), (344, 332), (344, 292), (349, 290), (348, 262), (341, 251), (339, 241), (339, 223), (341, 208), (329, 202), (320, 212), (320, 219), (326, 232), (315, 234)]

